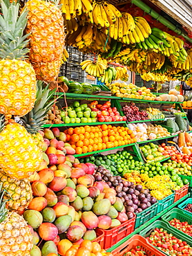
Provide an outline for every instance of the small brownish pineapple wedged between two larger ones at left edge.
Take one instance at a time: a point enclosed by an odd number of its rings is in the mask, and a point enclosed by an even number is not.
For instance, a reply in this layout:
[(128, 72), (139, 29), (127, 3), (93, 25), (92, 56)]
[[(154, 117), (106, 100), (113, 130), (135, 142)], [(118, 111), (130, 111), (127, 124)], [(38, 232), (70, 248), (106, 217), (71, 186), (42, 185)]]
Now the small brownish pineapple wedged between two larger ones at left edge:
[[(22, 212), (32, 200), (32, 189), (28, 179), (12, 179), (0, 170), (0, 183), (5, 190), (3, 199), (11, 211)], [(1, 254), (0, 254), (1, 255)]]

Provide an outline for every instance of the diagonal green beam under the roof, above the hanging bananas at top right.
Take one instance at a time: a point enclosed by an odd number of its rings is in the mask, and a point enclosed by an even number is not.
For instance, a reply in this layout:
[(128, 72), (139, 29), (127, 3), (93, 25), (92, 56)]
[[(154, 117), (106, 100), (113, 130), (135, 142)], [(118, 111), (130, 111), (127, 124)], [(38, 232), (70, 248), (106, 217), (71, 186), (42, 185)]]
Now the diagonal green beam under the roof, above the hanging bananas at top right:
[(188, 42), (192, 43), (192, 38), (190, 38), (188, 35), (185, 35), (180, 28), (177, 28), (174, 24), (172, 24), (170, 21), (162, 17), (159, 13), (155, 12), (151, 7), (147, 6), (146, 3), (143, 3), (141, 0), (131, 0), (131, 3), (135, 4), (135, 6), (141, 8), (144, 10), (144, 12), (151, 15), (154, 19), (157, 19), (157, 21), (160, 21), (164, 26), (167, 28), (173, 30), (177, 35), (181, 35), (184, 37)]

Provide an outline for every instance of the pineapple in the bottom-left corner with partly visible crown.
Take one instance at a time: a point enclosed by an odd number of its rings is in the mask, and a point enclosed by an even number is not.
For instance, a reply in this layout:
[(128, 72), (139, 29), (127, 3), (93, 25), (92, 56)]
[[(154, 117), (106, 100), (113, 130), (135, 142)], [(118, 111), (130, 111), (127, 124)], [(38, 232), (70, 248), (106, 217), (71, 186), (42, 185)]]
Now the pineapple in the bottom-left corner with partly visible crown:
[[(2, 184), (0, 185), (0, 191)], [(16, 212), (6, 209), (3, 191), (0, 192), (0, 255), (30, 256), (32, 233), (28, 223)]]

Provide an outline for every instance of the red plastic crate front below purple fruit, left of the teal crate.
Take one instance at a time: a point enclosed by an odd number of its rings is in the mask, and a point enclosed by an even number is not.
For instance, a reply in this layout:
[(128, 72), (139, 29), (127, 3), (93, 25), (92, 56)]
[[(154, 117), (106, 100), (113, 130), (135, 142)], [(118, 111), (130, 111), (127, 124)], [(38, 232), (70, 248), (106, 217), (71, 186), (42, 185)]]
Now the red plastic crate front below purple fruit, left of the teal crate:
[(134, 213), (133, 219), (128, 219), (128, 221), (125, 221), (120, 226), (117, 226), (110, 230), (97, 228), (97, 230), (102, 230), (104, 232), (104, 249), (107, 250), (108, 248), (111, 248), (112, 246), (117, 244), (117, 241), (120, 241), (124, 237), (130, 235), (135, 228), (135, 219), (136, 215)]

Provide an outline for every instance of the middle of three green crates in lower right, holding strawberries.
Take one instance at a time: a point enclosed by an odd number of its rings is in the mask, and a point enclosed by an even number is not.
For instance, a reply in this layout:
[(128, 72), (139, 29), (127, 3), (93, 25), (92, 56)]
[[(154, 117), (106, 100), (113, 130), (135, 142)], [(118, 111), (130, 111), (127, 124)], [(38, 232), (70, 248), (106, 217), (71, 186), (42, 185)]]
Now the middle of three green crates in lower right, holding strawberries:
[[(166, 214), (164, 214), (162, 216), (162, 221), (165, 221), (166, 223), (169, 224), (169, 221), (171, 221), (171, 219), (179, 219), (180, 221), (184, 222), (187, 221), (189, 223), (189, 225), (192, 225), (192, 219), (191, 217), (189, 217), (188, 214), (186, 214), (184, 212), (184, 210), (180, 210), (177, 208), (173, 208), (171, 209), (169, 212), (166, 212)], [(169, 226), (171, 226), (169, 224)], [(174, 228), (173, 226), (171, 226), (171, 228)], [(181, 232), (181, 234), (185, 234), (184, 232), (182, 232), (181, 230), (178, 230), (177, 228), (175, 228), (178, 232)], [(186, 234), (185, 234), (186, 235)], [(187, 237), (191, 238), (189, 235), (186, 235)]]

